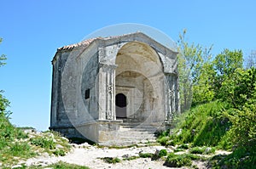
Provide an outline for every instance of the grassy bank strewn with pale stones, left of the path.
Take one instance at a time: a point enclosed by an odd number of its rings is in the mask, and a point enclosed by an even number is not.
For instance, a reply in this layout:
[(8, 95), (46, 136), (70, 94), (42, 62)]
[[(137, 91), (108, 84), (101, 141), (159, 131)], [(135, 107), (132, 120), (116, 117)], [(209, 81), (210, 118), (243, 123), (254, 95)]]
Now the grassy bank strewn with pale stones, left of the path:
[(23, 128), (14, 127), (5, 115), (0, 114), (1, 167), (8, 168), (20, 160), (26, 160), (43, 152), (63, 156), (70, 149), (71, 145), (67, 138), (61, 137), (58, 132), (25, 133)]

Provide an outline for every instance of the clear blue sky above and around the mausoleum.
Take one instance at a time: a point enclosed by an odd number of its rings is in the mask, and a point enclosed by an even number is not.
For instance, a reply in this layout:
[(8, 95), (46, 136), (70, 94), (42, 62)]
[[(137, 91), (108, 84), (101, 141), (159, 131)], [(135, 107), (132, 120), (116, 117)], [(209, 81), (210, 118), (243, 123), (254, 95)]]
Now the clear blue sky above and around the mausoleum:
[[(108, 25), (152, 26), (177, 41), (187, 29), (189, 42), (256, 50), (256, 1), (0, 1), (0, 89), (11, 102), (11, 121), (18, 127), (49, 127), (51, 59), (56, 48), (80, 42)], [(138, 30), (139, 31), (139, 30)]]

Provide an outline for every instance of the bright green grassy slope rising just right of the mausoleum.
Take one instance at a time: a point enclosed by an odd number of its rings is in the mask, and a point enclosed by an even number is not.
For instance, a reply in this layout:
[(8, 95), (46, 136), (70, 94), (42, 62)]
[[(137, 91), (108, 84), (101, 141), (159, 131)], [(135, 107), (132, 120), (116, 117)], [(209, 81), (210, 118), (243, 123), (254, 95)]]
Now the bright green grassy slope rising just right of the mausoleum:
[[(177, 144), (194, 144), (194, 146), (224, 146), (230, 148), (226, 140), (226, 130), (230, 121), (222, 115), (227, 105), (218, 101), (201, 104), (183, 114), (183, 121), (174, 129), (170, 138)], [(225, 141), (224, 141), (225, 140)], [(166, 142), (167, 143), (167, 142)]]

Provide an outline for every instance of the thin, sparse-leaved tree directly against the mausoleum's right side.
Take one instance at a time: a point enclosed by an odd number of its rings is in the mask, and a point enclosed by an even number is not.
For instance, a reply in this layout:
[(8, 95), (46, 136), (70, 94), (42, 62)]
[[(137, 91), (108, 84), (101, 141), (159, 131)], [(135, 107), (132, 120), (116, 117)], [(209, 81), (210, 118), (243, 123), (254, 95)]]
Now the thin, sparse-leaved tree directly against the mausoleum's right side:
[[(206, 96), (207, 100), (212, 98), (212, 91), (210, 87), (205, 87), (204, 79), (207, 79), (207, 70), (211, 69), (209, 65), (212, 57), (210, 48), (203, 48), (200, 44), (187, 42), (186, 30), (179, 34), (177, 41), (178, 46), (178, 73), (179, 73), (179, 88), (180, 88), (180, 101), (183, 110), (188, 110), (191, 103), (201, 103), (198, 100)], [(210, 92), (210, 93), (208, 93)], [(204, 98), (203, 100), (205, 100)]]

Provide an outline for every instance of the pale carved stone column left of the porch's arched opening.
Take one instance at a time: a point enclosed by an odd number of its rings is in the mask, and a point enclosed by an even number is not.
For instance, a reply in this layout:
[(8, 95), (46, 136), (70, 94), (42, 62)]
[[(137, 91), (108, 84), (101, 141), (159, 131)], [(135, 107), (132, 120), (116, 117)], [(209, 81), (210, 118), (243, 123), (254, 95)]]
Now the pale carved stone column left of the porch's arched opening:
[(116, 120), (115, 68), (117, 65), (100, 63), (99, 70), (99, 120)]

